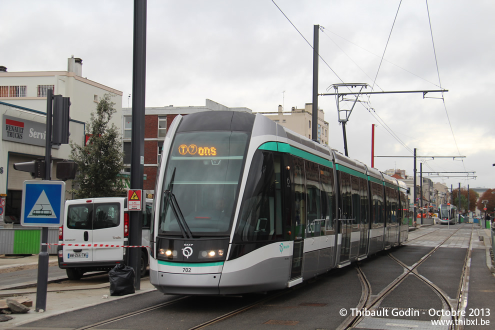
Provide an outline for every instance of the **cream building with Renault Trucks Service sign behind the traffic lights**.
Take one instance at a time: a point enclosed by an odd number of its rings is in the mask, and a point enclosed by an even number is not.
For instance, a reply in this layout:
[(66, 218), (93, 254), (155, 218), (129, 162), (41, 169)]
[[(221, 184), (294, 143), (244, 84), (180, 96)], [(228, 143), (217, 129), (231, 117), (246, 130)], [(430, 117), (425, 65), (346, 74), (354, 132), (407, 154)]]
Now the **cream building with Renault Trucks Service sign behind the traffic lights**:
[[(117, 113), (111, 122), (120, 127), (122, 92), (83, 78), (81, 72), (82, 60), (74, 57), (68, 58), (67, 71), (7, 72), (0, 66), (0, 197), (4, 200), (0, 222), (18, 221), (23, 181), (32, 179), (28, 172), (15, 170), (13, 164), (44, 158), (47, 90), (70, 97), (70, 141), (84, 143), (85, 123), (105, 93), (113, 95)], [(51, 156), (51, 177), (56, 179), (56, 163), (70, 158), (70, 146), (53, 146)], [(66, 188), (71, 188), (70, 182)], [(66, 194), (66, 198), (71, 195)]]

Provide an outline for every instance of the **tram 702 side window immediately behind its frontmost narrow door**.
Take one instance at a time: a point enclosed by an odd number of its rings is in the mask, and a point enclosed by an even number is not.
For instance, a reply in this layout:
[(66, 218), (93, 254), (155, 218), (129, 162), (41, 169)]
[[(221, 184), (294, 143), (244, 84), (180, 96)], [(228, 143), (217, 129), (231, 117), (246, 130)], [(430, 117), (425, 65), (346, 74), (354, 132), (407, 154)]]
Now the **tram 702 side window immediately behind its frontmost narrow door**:
[(319, 188), (318, 164), (304, 160), (306, 169), (306, 191), (307, 191), (307, 226), (306, 237), (320, 236), (323, 229), (324, 219), (321, 218), (321, 196)]

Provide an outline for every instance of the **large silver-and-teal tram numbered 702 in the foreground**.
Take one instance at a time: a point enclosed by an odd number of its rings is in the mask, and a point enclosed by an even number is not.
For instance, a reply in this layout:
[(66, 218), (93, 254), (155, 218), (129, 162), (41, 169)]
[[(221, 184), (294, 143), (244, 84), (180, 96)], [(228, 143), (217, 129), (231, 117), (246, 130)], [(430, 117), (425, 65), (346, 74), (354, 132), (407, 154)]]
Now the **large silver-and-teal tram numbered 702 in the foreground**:
[(156, 179), (150, 281), (172, 294), (294, 286), (406, 241), (406, 193), (262, 114), (178, 115)]

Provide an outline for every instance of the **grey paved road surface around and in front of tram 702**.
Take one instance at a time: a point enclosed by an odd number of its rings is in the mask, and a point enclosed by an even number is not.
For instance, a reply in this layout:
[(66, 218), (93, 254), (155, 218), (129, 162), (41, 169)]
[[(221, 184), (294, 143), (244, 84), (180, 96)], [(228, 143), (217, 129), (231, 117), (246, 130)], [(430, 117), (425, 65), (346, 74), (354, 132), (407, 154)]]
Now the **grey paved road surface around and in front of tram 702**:
[[(396, 260), (410, 267), (433, 250), (456, 229), (433, 254), (421, 263), (415, 274), (407, 273), (396, 289), (384, 295), (373, 307), (388, 315), (365, 317), (355, 324), (356, 328), (447, 328), (432, 326), (429, 309), (445, 308), (438, 292), (427, 285), (420, 277), (426, 278), (447, 299), (455, 301), (461, 291), (464, 257), (470, 257), (471, 273), (469, 275), (469, 292), (467, 308), (491, 308), (491, 315), (486, 317), (466, 317), (468, 320), (490, 321), (495, 324), (495, 308), (492, 297), (495, 294), (495, 278), (486, 266), (485, 245), (478, 239), (477, 229), (471, 231), (471, 225), (422, 227), (411, 232), (409, 241), (401, 247), (377, 253), (359, 262), (362, 273), (369, 282), (370, 296), (378, 297), (387, 290), (389, 284), (405, 274), (404, 267)], [(425, 235), (430, 233), (429, 235)], [(471, 235), (472, 233), (472, 235)], [(422, 236), (424, 235), (424, 236)], [(421, 236), (421, 237), (420, 237)], [(469, 239), (472, 236), (472, 241)], [(414, 239), (419, 237), (417, 239)], [(143, 294), (123, 297), (119, 300), (90, 306), (76, 311), (47, 317), (21, 325), (22, 328), (79, 328), (94, 325), (94, 328), (112, 329), (152, 329), (174, 328), (189, 329), (211, 319), (221, 317), (227, 312), (235, 311), (229, 318), (210, 324), (214, 329), (252, 329), (269, 326), (270, 329), (321, 328), (334, 329), (346, 318), (347, 313), (355, 308), (362, 293), (356, 264), (332, 270), (330, 273), (310, 282), (305, 282), (291, 289), (282, 290), (275, 295), (249, 294), (242, 297), (223, 296), (175, 296), (163, 295), (154, 290)], [(270, 297), (266, 299), (266, 297)], [(258, 302), (255, 305), (251, 305)], [(142, 313), (133, 314), (143, 310)], [(391, 315), (395, 310), (417, 310), (418, 315)], [(385, 312), (386, 311), (386, 312)], [(469, 310), (467, 310), (469, 312)], [(129, 313), (125, 319), (119, 316)], [(111, 323), (96, 324), (110, 318)], [(465, 328), (469, 328), (466, 326)], [(489, 328), (489, 327), (487, 327)]]

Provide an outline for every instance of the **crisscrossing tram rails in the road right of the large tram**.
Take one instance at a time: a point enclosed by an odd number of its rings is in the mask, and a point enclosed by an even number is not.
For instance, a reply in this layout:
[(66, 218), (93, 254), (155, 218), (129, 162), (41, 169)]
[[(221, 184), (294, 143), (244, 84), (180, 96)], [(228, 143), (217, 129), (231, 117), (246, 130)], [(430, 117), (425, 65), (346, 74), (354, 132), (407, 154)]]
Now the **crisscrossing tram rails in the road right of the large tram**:
[[(467, 305), (467, 283), (468, 283), (468, 271), (469, 271), (469, 263), (470, 263), (470, 246), (471, 246), (471, 240), (472, 240), (472, 231), (473, 227), (471, 227), (471, 234), (469, 238), (469, 246), (467, 249), (467, 253), (464, 259), (464, 266), (462, 268), (462, 276), (461, 280), (459, 283), (459, 289), (458, 289), (458, 296), (454, 298), (450, 298), (440, 287), (435, 285), (433, 282), (428, 280), (426, 277), (422, 276), (421, 274), (418, 273), (417, 268), (423, 264), (425, 260), (427, 260), (435, 251), (437, 251), (450, 237), (452, 237), (455, 233), (457, 233), (462, 227), (457, 228), (454, 232), (452, 232), (450, 235), (448, 235), (445, 239), (443, 239), (439, 244), (437, 244), (433, 249), (431, 249), (428, 253), (423, 255), (418, 261), (416, 261), (413, 265), (408, 266), (396, 257), (394, 257), (390, 252), (387, 253), (387, 255), (393, 259), (395, 262), (397, 262), (399, 265), (401, 265), (404, 269), (403, 273), (399, 275), (395, 280), (393, 280), (391, 283), (389, 283), (384, 289), (382, 289), (380, 292), (378, 292), (377, 295), (372, 296), (371, 295), (371, 285), (369, 281), (366, 278), (366, 275), (364, 274), (363, 270), (357, 263), (355, 265), (355, 268), (358, 273), (358, 277), (361, 280), (361, 286), (363, 288), (363, 294), (361, 295), (361, 300), (359, 301), (358, 305), (356, 306), (356, 310), (363, 310), (363, 309), (376, 309), (379, 308), (379, 305), (381, 301), (390, 293), (392, 292), (400, 283), (402, 283), (405, 278), (408, 275), (413, 275), (416, 278), (418, 278), (420, 281), (425, 283), (428, 287), (430, 287), (442, 300), (442, 305), (443, 305), (443, 310), (445, 310), (447, 307), (448, 310), (455, 310), (456, 314), (458, 315), (461, 310), (465, 310), (465, 307)], [(424, 237), (425, 235), (431, 234), (436, 232), (439, 229), (436, 229), (432, 232), (426, 233), (424, 235), (415, 237), (414, 239), (417, 239), (419, 237)], [(412, 239), (413, 240), (413, 239)], [(367, 292), (367, 293), (364, 293)], [(357, 313), (356, 313), (357, 314)], [(347, 329), (349, 327), (357, 325), (364, 317), (364, 315), (352, 315), (348, 316), (338, 327), (337, 329)], [(455, 322), (458, 319), (458, 316), (450, 316), (452, 320)], [(459, 326), (452, 325), (450, 327), (451, 329), (458, 329), (460, 328)]]

